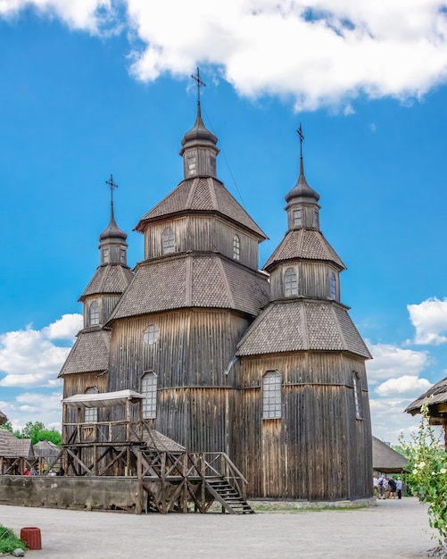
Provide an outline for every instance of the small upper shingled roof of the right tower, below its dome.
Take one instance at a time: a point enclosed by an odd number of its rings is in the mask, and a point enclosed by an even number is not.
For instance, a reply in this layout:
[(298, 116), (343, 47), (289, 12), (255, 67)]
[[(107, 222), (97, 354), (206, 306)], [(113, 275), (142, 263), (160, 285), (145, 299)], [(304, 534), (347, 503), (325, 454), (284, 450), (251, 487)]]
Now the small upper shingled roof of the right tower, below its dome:
[(274, 263), (297, 258), (333, 262), (341, 270), (346, 270), (346, 266), (332, 246), (329, 245), (323, 233), (316, 229), (292, 229), (287, 231), (285, 238), (269, 257), (263, 270), (269, 270)]

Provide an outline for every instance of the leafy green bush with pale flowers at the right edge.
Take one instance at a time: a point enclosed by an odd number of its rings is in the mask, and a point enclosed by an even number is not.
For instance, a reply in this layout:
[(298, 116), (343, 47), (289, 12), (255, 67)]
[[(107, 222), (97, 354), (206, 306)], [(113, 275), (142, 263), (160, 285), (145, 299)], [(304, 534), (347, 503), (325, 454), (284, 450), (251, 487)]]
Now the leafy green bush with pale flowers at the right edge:
[(408, 442), (399, 442), (410, 458), (409, 481), (419, 498), (428, 503), (430, 526), (439, 532), (439, 543), (447, 541), (447, 453), (440, 445), (428, 418), (428, 405), (421, 407), (418, 432)]

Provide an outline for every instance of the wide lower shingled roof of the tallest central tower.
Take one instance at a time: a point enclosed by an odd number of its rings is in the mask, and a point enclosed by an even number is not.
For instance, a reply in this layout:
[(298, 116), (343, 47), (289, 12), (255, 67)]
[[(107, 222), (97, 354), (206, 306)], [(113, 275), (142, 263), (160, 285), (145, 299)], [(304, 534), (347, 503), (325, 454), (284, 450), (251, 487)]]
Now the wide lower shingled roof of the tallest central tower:
[(110, 320), (187, 308), (226, 308), (256, 316), (269, 301), (266, 275), (217, 254), (139, 263)]

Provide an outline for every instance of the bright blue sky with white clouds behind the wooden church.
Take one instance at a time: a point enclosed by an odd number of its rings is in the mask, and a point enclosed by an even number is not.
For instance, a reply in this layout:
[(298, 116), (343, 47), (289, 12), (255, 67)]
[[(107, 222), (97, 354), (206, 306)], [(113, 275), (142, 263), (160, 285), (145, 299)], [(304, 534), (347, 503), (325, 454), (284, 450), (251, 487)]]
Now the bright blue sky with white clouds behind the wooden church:
[(446, 5), (160, 4), (0, 0), (0, 409), (19, 429), (60, 424), (104, 181), (133, 266), (132, 229), (182, 179), (200, 65), (218, 176), (269, 236), (261, 263), (286, 232), (302, 122), (342, 300), (375, 357), (373, 432), (408, 437), (405, 406), (447, 368)]

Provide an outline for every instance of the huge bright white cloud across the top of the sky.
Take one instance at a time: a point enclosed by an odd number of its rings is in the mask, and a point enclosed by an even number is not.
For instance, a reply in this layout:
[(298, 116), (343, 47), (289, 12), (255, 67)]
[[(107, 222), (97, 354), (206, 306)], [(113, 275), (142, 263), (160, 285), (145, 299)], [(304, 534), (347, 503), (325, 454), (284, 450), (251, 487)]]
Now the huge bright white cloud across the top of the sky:
[[(151, 81), (208, 65), (239, 94), (346, 107), (363, 92), (401, 101), (447, 79), (442, 0), (0, 0), (0, 16), (33, 6), (73, 29), (125, 28), (131, 72)], [(175, 17), (173, 17), (175, 14)], [(126, 21), (127, 18), (127, 21)], [(210, 68), (210, 73), (211, 73)]]

